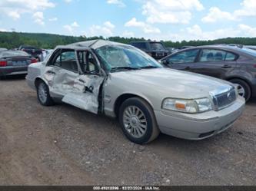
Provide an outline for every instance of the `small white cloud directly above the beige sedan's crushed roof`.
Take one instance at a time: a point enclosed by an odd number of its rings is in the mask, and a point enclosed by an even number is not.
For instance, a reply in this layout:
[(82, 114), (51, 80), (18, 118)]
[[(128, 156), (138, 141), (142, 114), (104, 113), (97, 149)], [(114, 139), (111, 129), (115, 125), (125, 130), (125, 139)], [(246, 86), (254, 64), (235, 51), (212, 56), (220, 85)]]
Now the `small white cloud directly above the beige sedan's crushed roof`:
[(105, 21), (103, 25), (92, 25), (89, 28), (89, 35), (109, 37), (113, 35), (114, 29), (115, 25), (113, 25), (110, 21)]

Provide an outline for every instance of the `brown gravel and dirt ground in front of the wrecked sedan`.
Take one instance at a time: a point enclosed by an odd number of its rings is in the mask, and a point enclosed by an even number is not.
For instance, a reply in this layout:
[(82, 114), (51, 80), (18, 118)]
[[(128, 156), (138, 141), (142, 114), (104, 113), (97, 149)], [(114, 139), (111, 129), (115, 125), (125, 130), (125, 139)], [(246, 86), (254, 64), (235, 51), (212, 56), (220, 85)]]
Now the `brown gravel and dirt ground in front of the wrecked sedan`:
[(0, 81), (1, 185), (255, 185), (256, 100), (224, 133), (129, 142), (116, 120), (42, 107), (24, 78)]

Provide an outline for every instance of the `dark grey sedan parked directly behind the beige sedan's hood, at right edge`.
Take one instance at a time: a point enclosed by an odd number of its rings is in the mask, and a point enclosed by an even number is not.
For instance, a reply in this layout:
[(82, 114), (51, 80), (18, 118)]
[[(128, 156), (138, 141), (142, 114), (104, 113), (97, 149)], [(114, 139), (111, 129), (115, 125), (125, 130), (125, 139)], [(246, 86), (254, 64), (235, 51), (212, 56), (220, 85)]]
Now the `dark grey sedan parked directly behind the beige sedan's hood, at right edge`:
[(168, 68), (191, 71), (230, 81), (249, 100), (256, 97), (256, 51), (238, 46), (209, 45), (188, 48), (162, 58)]

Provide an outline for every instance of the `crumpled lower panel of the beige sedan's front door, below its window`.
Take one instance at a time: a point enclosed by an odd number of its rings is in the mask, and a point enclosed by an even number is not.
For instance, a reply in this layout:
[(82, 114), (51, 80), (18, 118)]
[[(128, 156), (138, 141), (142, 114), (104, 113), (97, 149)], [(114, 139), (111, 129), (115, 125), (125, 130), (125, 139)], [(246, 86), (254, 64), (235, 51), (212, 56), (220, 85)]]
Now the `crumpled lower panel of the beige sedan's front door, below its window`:
[(62, 101), (98, 114), (98, 94), (103, 81), (104, 77), (95, 74), (80, 75), (75, 79), (72, 91), (65, 94)]

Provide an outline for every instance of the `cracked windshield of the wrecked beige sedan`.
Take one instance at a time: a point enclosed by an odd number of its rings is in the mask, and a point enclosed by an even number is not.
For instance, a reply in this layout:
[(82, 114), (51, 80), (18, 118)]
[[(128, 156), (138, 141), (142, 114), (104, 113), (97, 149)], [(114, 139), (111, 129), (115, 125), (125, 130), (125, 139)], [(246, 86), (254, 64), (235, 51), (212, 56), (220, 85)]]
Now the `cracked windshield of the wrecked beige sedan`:
[(98, 56), (108, 71), (162, 68), (161, 64), (138, 48), (125, 45), (108, 45), (97, 48)]

